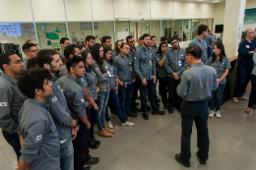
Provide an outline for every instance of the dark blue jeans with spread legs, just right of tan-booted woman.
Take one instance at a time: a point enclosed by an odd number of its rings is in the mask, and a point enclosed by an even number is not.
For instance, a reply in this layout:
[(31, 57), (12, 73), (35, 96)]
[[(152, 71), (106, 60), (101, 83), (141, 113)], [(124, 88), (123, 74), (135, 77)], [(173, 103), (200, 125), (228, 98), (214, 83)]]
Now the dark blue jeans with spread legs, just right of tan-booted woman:
[[(113, 89), (110, 89), (110, 91), (109, 91), (108, 103), (109, 103), (109, 101), (112, 102), (114, 110), (116, 111), (116, 114), (119, 117), (120, 121), (122, 123), (125, 123), (126, 118), (125, 118), (125, 116), (124, 116), (124, 114), (121, 110), (118, 94), (116, 94)], [(108, 103), (107, 103), (106, 108), (105, 108), (105, 120), (106, 121), (110, 121), (109, 114), (108, 114)]]

